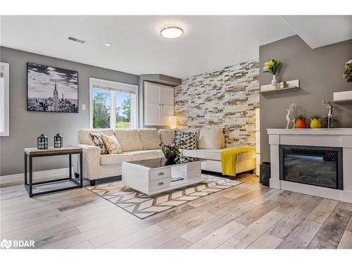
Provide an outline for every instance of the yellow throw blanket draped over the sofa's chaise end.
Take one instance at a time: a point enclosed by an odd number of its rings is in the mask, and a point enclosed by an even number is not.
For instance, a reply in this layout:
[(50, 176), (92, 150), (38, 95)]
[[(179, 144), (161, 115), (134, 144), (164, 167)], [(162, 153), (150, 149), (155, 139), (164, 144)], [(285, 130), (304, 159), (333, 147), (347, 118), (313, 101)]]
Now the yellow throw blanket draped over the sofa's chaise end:
[(236, 176), (236, 161), (237, 154), (253, 151), (256, 152), (256, 148), (236, 148), (227, 149), (221, 152), (221, 168), (222, 175)]

